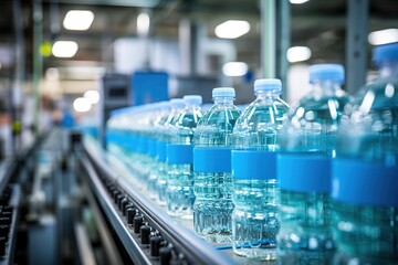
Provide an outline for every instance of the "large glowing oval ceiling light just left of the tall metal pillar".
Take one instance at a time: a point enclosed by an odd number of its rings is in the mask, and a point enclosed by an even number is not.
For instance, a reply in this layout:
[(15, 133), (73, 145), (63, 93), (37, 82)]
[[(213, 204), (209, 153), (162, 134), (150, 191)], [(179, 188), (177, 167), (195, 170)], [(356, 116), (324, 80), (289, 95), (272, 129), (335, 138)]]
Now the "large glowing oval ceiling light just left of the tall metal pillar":
[(216, 26), (214, 33), (222, 39), (237, 39), (250, 31), (250, 24), (244, 20), (228, 20)]

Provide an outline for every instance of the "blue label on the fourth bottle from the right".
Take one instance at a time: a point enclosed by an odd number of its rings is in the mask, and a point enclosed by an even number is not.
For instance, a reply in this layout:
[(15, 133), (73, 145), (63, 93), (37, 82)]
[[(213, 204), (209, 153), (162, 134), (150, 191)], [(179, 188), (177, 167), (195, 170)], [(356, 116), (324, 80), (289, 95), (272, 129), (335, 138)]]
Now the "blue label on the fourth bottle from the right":
[(230, 147), (195, 147), (193, 171), (196, 172), (231, 172)]

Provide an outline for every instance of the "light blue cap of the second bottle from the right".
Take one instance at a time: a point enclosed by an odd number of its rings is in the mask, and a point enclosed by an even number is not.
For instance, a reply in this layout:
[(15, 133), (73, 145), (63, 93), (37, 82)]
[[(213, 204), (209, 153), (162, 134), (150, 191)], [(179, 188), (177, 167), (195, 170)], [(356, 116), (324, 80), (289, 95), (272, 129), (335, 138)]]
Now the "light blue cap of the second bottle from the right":
[(334, 81), (344, 84), (344, 67), (341, 64), (315, 64), (310, 66), (310, 83)]

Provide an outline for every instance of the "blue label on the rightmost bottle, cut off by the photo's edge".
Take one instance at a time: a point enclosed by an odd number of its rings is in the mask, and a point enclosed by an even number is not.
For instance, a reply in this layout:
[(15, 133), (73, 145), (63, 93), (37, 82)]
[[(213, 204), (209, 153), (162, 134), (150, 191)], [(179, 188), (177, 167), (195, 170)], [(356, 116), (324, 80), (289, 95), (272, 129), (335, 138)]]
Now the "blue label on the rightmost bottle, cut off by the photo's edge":
[(398, 166), (335, 159), (332, 172), (334, 200), (356, 205), (398, 206)]

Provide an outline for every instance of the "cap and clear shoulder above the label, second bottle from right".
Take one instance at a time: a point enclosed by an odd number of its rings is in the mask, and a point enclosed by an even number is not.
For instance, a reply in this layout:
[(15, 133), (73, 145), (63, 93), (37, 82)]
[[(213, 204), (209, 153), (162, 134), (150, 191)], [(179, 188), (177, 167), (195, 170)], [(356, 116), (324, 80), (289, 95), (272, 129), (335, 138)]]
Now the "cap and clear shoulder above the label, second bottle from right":
[(285, 151), (323, 151), (336, 156), (336, 134), (352, 97), (343, 89), (344, 67), (317, 64), (310, 67), (312, 91), (292, 108), (283, 131)]

